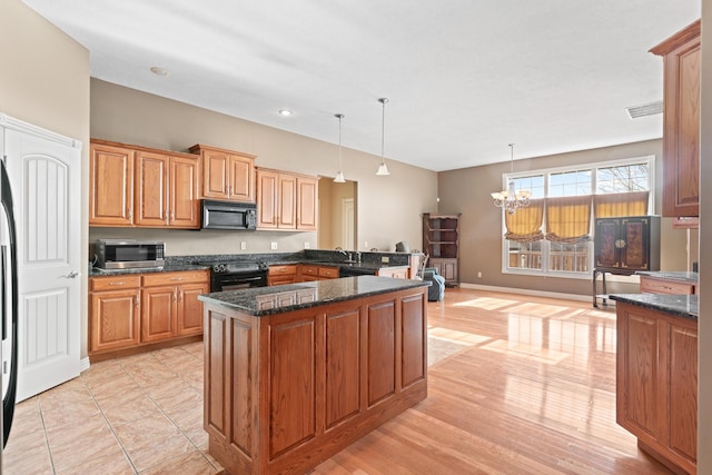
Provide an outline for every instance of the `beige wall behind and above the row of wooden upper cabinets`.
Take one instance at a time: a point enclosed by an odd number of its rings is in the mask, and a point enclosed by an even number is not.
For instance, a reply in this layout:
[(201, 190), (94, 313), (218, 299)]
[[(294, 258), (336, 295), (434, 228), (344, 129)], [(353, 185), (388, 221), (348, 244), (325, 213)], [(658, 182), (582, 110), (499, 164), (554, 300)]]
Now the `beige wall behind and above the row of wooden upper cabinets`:
[[(91, 137), (177, 151), (200, 142), (256, 155), (258, 167), (325, 177), (337, 168), (334, 144), (97, 79), (91, 80)], [(437, 174), (390, 160), (390, 176), (376, 177), (379, 158), (348, 148), (343, 160), (346, 178), (358, 182), (358, 248), (368, 243), (368, 248), (394, 250), (399, 240), (419, 243), (421, 214), (434, 208)], [(305, 243), (317, 247), (316, 232), (90, 230), (91, 240), (117, 236), (162, 239), (168, 255), (239, 254), (239, 241), (246, 243), (246, 253), (269, 251), (271, 243), (279, 251), (303, 249)]]

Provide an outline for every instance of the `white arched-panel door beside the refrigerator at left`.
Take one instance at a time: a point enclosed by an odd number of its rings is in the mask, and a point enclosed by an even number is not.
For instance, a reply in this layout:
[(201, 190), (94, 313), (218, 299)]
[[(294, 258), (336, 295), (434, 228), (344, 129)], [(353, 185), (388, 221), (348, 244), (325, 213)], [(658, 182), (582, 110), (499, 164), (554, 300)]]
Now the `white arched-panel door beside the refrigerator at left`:
[[(21, 123), (21, 122), (20, 122)], [(81, 145), (6, 129), (17, 227), (18, 402), (79, 376)]]

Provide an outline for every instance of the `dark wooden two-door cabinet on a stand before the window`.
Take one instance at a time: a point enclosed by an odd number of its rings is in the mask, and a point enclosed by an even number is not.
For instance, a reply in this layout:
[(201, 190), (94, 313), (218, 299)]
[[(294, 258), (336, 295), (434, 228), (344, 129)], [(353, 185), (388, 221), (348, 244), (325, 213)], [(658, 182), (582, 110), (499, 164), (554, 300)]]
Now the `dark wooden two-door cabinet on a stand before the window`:
[(621, 275), (660, 270), (660, 216), (596, 219), (594, 263), (599, 271)]

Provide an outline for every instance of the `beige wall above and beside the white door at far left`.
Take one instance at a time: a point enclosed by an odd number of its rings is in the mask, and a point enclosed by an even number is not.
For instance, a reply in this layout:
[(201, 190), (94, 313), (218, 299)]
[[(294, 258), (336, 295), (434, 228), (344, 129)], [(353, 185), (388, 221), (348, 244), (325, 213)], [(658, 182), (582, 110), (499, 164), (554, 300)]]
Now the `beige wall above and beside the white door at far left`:
[[(80, 140), (81, 202), (87, 202), (89, 52), (19, 0), (0, 2), (0, 112)], [(81, 210), (87, 248), (88, 207)], [(82, 259), (83, 261), (83, 259)], [(81, 270), (82, 268), (78, 269)], [(81, 291), (87, 295), (82, 273)], [(81, 356), (87, 355), (87, 299), (81, 298)]]

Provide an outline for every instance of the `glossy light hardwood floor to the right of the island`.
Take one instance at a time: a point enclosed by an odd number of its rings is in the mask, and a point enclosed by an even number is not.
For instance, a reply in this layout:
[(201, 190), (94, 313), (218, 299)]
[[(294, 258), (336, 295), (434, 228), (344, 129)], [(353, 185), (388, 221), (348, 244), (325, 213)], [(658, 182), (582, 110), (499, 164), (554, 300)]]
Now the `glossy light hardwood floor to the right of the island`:
[(669, 473), (615, 424), (614, 309), (447, 289), (428, 321), (428, 398), (314, 475)]

